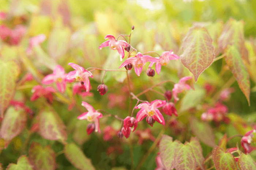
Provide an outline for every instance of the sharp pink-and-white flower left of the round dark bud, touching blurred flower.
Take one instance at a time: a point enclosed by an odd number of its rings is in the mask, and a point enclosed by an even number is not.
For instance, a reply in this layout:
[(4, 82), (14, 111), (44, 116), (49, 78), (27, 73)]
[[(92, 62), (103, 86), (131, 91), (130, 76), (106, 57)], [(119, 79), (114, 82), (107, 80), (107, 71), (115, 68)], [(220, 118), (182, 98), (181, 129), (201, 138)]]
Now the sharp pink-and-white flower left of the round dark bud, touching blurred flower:
[(88, 72), (83, 67), (75, 64), (75, 63), (68, 63), (69, 66), (73, 67), (75, 70), (72, 72), (69, 72), (66, 76), (66, 80), (68, 81), (83, 81), (84, 86), (86, 88), (86, 92), (89, 92), (90, 88), (90, 80), (89, 77), (93, 78), (93, 74), (91, 72)]

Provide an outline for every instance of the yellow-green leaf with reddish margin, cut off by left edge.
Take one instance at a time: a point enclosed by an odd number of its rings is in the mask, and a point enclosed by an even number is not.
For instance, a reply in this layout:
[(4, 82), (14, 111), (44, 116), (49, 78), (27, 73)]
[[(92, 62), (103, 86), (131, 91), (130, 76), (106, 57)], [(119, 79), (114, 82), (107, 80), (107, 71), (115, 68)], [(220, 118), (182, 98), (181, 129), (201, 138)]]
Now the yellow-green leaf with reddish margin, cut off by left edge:
[(15, 93), (15, 81), (19, 75), (19, 66), (15, 61), (0, 59), (0, 118)]

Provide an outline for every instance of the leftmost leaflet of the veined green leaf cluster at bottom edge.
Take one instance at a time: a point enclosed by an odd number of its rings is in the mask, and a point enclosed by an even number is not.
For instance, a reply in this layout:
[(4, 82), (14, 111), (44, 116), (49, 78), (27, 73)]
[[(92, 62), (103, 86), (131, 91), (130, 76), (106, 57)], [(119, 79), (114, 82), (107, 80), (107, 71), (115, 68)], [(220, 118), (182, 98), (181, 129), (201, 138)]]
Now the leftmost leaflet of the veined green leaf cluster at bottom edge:
[(165, 166), (165, 169), (173, 169), (175, 166), (175, 154), (182, 144), (175, 140), (173, 142), (172, 137), (163, 135), (159, 143), (160, 158)]

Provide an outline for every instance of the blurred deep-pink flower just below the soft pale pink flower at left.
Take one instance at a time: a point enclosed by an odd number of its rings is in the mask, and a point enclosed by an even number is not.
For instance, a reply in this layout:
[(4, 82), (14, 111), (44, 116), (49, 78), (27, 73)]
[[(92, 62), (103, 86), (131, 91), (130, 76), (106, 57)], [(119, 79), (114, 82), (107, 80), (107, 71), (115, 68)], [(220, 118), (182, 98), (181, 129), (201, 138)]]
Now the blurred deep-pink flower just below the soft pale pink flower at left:
[(53, 94), (52, 93), (56, 92), (56, 90), (49, 86), (46, 88), (43, 88), (41, 85), (36, 85), (33, 87), (31, 92), (33, 94), (30, 97), (30, 101), (37, 100), (39, 97), (45, 97), (46, 99), (48, 99), (50, 101), (50, 103), (52, 103), (53, 102)]

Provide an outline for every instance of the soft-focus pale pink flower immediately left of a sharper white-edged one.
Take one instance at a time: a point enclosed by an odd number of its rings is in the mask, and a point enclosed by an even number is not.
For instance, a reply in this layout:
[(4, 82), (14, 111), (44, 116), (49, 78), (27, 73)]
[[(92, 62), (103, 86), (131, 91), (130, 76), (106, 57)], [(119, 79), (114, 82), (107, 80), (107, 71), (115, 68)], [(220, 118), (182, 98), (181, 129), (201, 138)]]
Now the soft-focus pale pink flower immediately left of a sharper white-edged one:
[(45, 76), (45, 78), (42, 80), (42, 84), (48, 85), (55, 82), (57, 89), (61, 93), (64, 93), (66, 90), (66, 84), (68, 82), (65, 77), (66, 77), (66, 74), (65, 74), (64, 68), (61, 67), (60, 65), (56, 65), (53, 70), (53, 74), (49, 74)]

